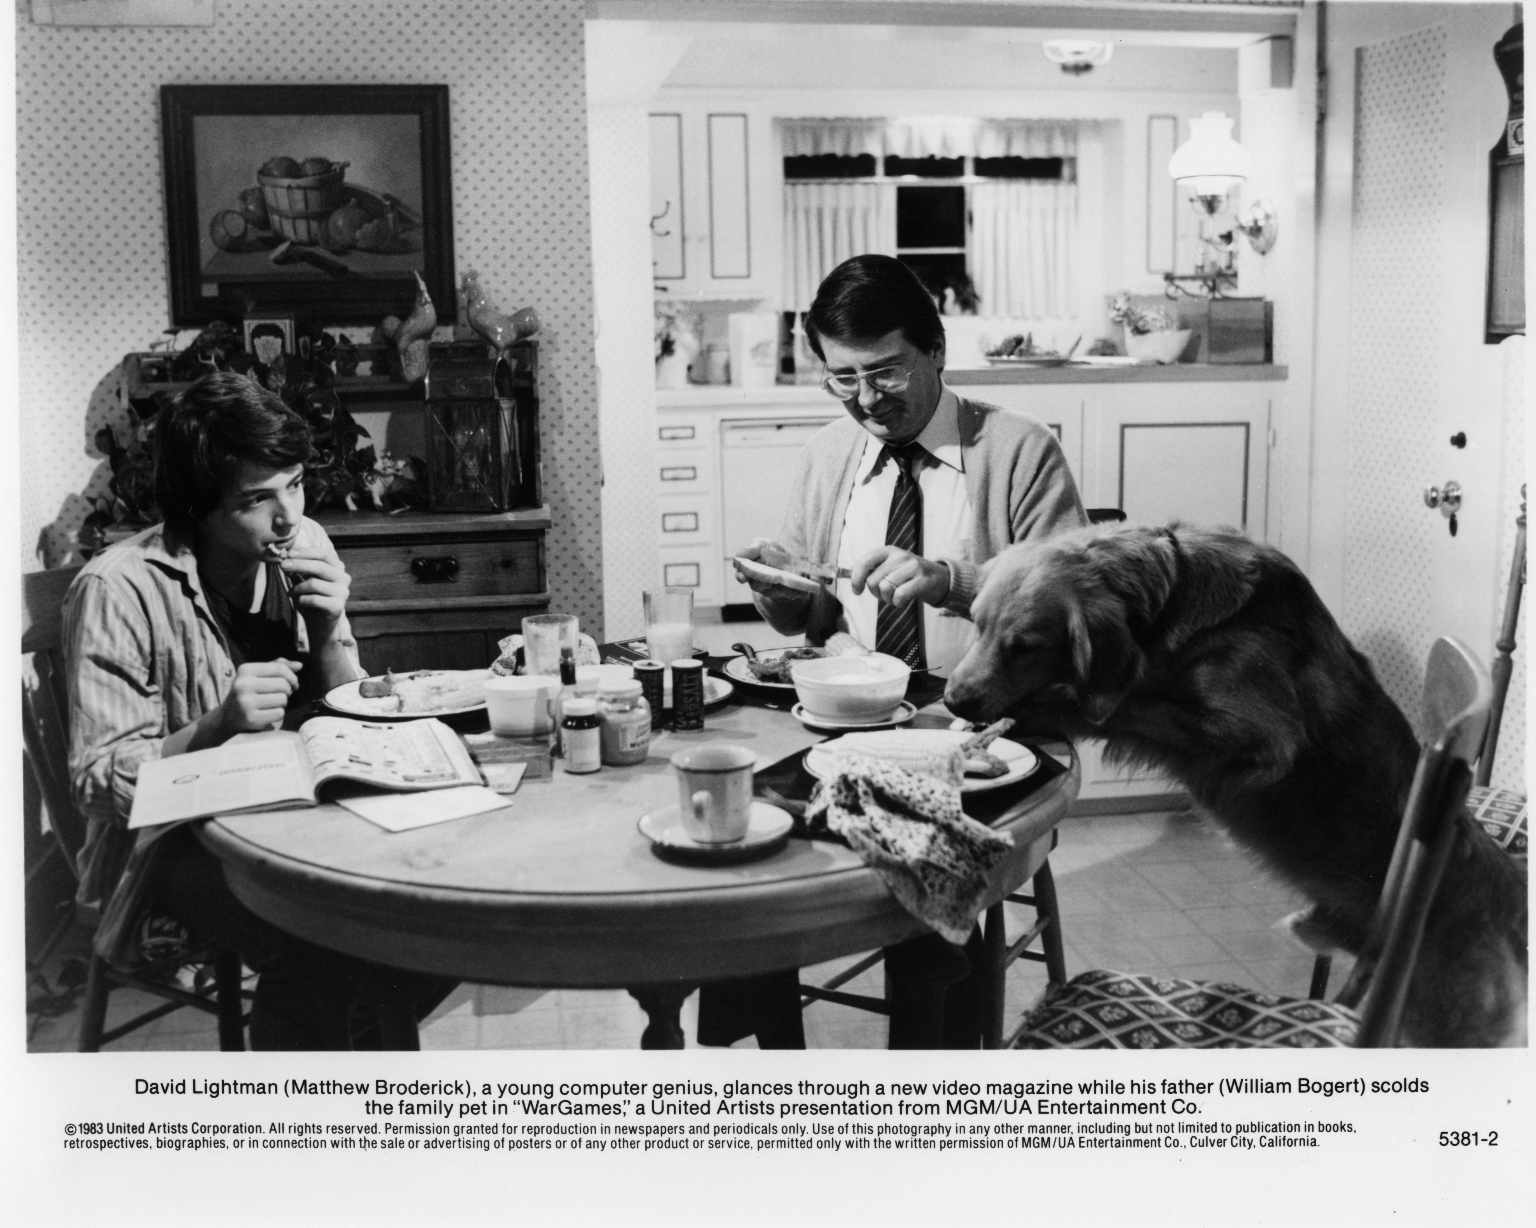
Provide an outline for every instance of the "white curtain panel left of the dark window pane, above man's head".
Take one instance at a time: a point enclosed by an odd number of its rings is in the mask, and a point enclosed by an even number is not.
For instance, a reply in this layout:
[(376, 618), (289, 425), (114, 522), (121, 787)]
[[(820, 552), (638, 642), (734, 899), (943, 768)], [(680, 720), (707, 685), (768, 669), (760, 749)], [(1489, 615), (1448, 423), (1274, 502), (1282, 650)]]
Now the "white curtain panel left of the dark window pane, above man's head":
[(848, 257), (895, 255), (895, 184), (783, 186), (783, 307), (809, 310), (816, 287)]

